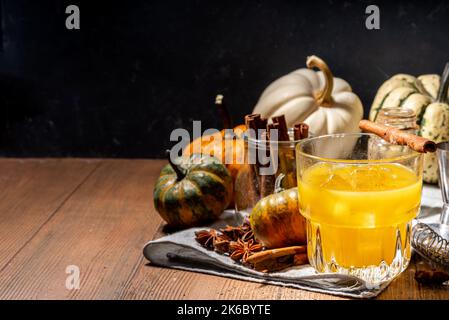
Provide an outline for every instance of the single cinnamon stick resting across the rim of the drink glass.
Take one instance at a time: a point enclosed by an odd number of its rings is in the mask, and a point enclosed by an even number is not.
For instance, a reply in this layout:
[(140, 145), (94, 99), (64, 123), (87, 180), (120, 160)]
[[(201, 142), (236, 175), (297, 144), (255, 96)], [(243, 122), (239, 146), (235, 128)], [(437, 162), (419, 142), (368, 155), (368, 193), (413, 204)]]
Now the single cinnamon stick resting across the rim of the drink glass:
[(426, 153), (437, 150), (435, 142), (411, 133), (403, 132), (394, 127), (388, 127), (369, 120), (361, 120), (359, 122), (359, 128), (364, 132), (374, 133), (389, 143), (408, 146), (417, 152)]

